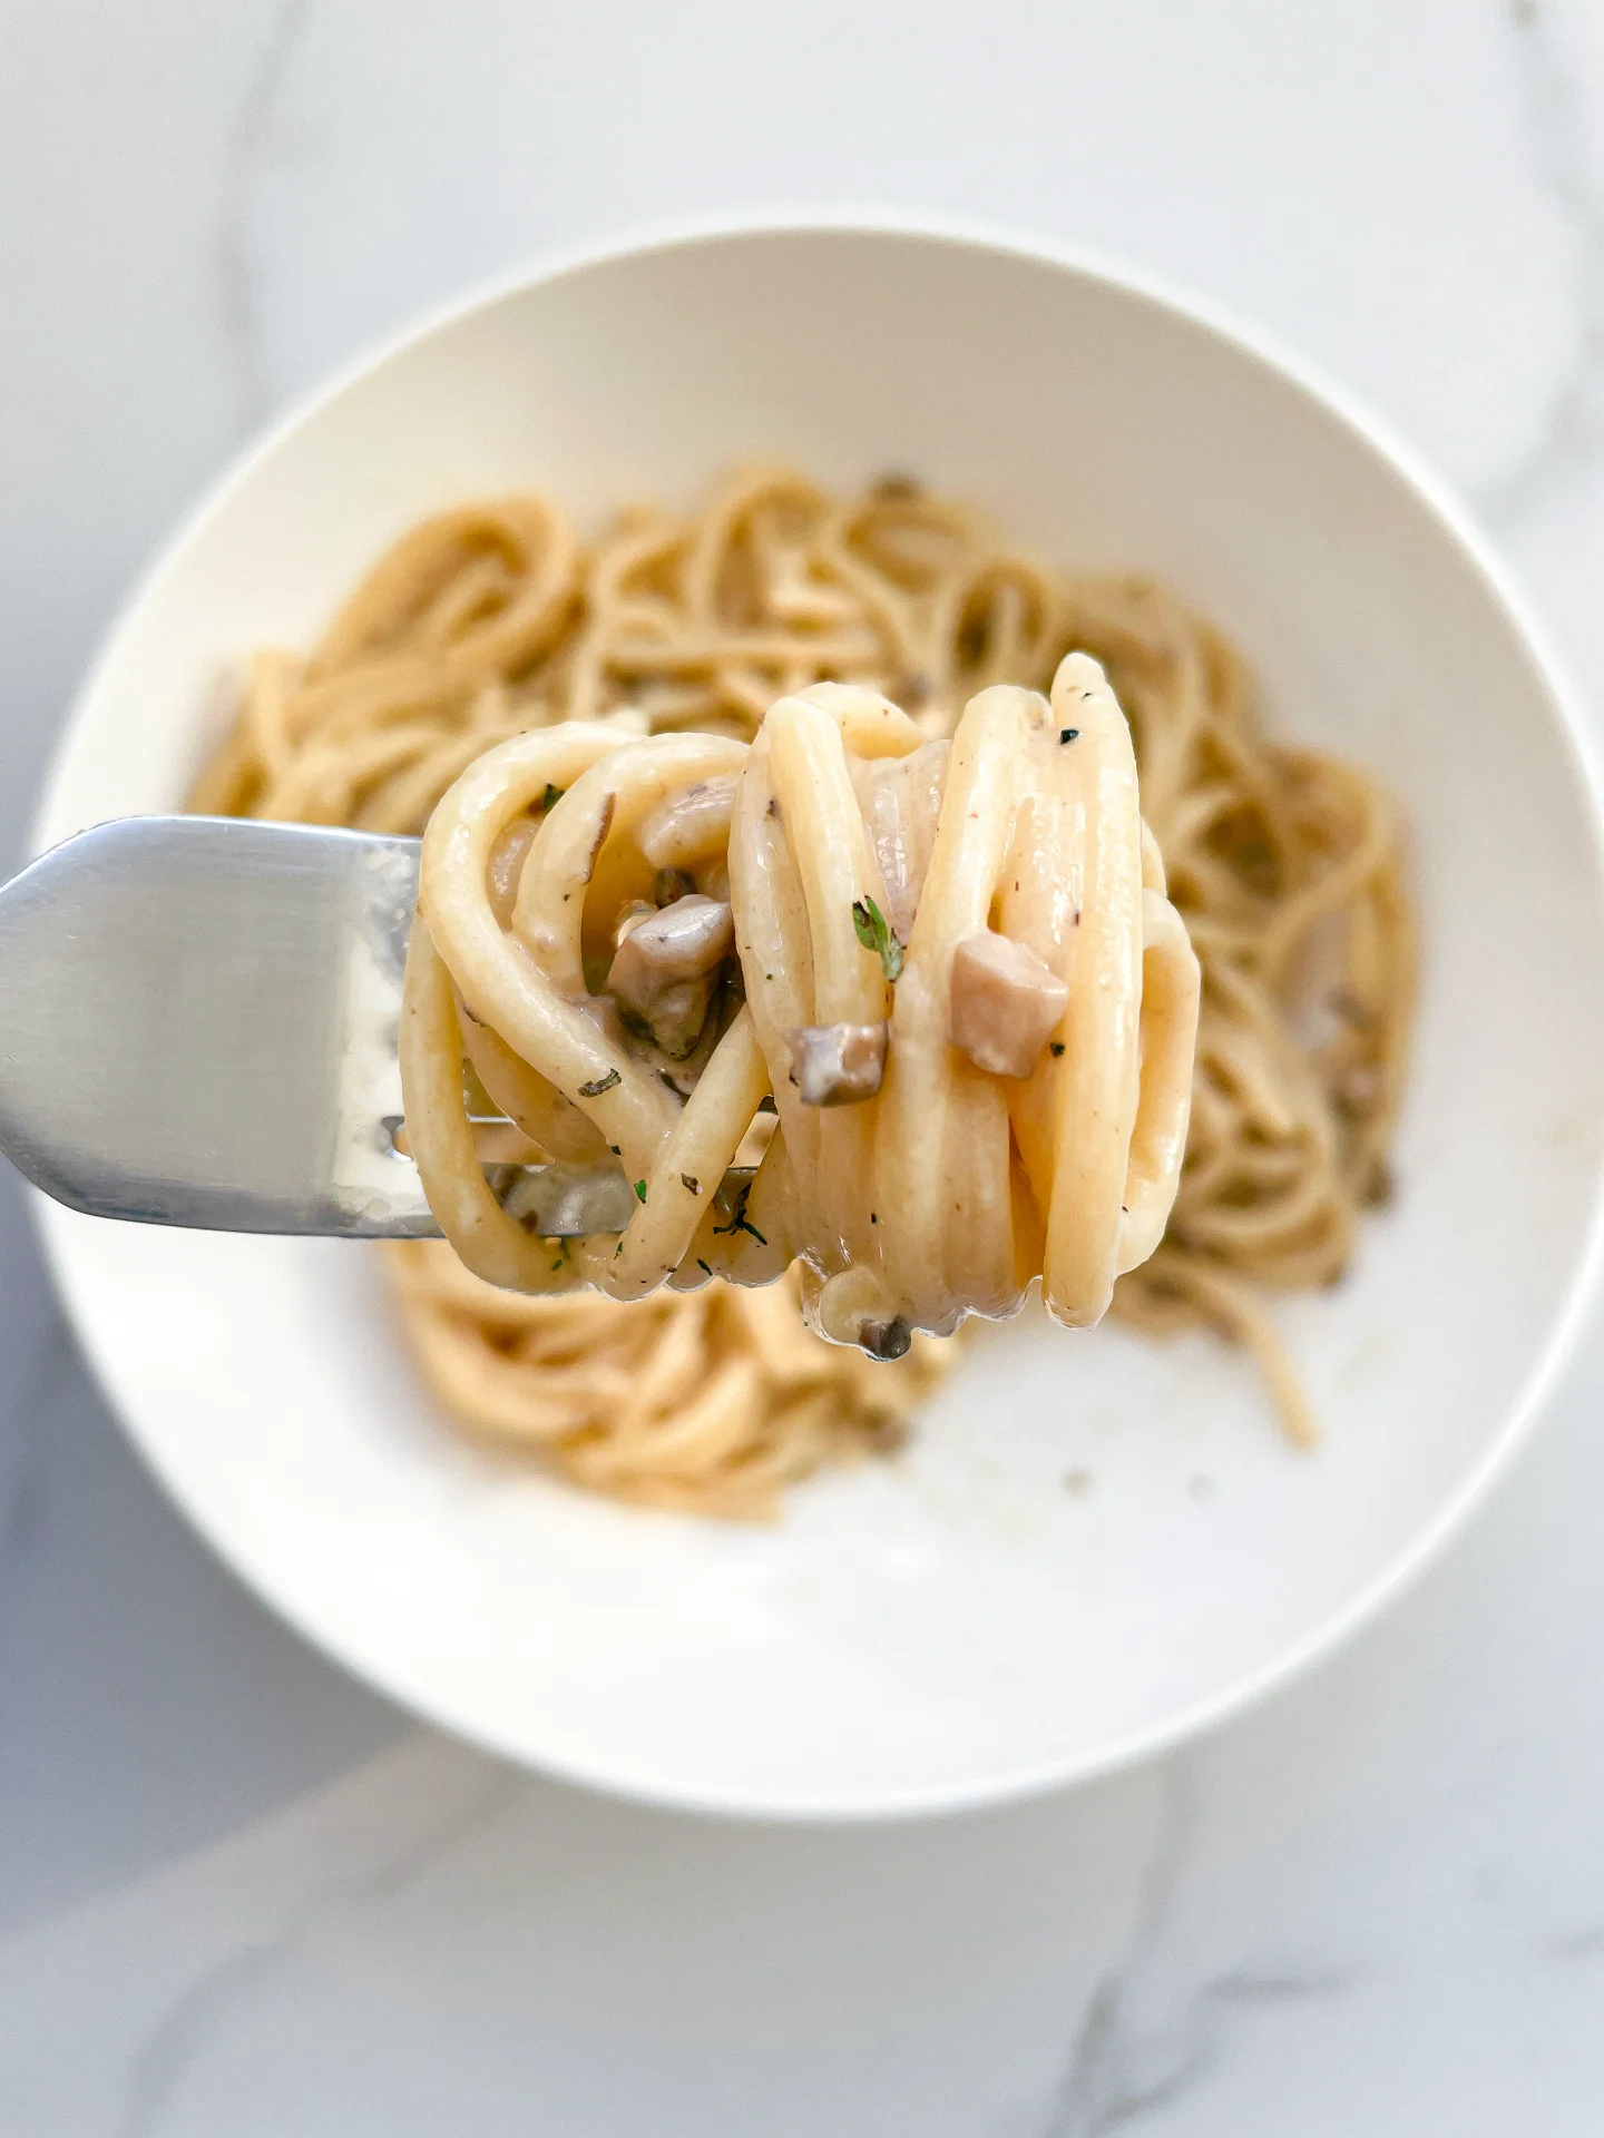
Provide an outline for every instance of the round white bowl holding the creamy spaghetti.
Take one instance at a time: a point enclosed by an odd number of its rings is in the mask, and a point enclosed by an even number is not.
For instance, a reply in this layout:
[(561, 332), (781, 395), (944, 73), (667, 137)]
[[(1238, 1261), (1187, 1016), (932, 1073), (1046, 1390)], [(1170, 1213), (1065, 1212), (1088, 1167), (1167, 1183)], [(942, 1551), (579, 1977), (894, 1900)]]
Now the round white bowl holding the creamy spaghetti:
[[(977, 1804), (1240, 1706), (1349, 1631), (1508, 1458), (1574, 1332), (1604, 1118), (1600, 821), (1499, 573), (1373, 425), (1129, 276), (868, 227), (565, 263), (394, 344), (263, 445), (118, 626), (41, 838), (173, 808), (240, 654), (306, 641), (447, 500), (582, 517), (744, 455), (915, 468), (1065, 567), (1142, 567), (1277, 725), (1403, 797), (1424, 994), (1354, 1274), (1281, 1323), (1292, 1454), (1206, 1336), (986, 1332), (911, 1452), (774, 1531), (635, 1514), (466, 1447), (359, 1249), (45, 1208), (152, 1469), (310, 1640), (552, 1772), (738, 1813)], [(1065, 1479), (1084, 1471), (1089, 1490)]]

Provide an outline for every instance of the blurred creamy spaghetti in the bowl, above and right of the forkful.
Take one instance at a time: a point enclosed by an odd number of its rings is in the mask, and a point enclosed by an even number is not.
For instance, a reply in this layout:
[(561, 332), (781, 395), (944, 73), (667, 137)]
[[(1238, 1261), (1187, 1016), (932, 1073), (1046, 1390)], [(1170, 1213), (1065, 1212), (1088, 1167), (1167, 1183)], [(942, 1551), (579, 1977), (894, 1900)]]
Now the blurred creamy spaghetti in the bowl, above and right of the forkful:
[[(539, 498), (460, 507), (406, 534), (310, 656), (255, 659), (190, 806), (419, 832), (522, 731), (577, 718), (751, 740), (776, 697), (826, 680), (885, 693), (939, 740), (988, 684), (1042, 691), (1076, 648), (1129, 716), (1204, 975), (1187, 1165), (1114, 1313), (1247, 1343), (1307, 1437), (1268, 1300), (1335, 1281), (1360, 1210), (1388, 1193), (1412, 1009), (1401, 840), (1360, 772), (1262, 733), (1240, 661), (1166, 590), (1065, 582), (903, 477), (830, 498), (744, 470), (706, 509), (635, 509), (590, 547)], [(417, 1300), (413, 1281), (408, 1321)], [(650, 1313), (680, 1306), (697, 1300), (663, 1291)], [(485, 1368), (500, 1355), (485, 1319)], [(466, 1379), (447, 1400), (490, 1428)]]

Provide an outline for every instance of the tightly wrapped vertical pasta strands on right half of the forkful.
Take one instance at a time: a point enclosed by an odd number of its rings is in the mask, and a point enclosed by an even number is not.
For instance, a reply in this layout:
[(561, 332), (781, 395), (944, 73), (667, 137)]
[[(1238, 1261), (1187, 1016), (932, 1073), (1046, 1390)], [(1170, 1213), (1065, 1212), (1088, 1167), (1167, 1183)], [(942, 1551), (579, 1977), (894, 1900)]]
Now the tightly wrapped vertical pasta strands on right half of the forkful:
[[(1069, 654), (1050, 703), (992, 684), (950, 750), (920, 744), (868, 691), (783, 699), (729, 847), (804, 1300), (870, 1349), (1016, 1313), (1035, 1276), (1054, 1319), (1101, 1319), (1174, 1202), (1198, 1026), (1198, 962), (1097, 663)], [(907, 945), (888, 924), (877, 971), (847, 915), (881, 902)], [(811, 1107), (787, 1033), (888, 1009), (881, 1090)]]

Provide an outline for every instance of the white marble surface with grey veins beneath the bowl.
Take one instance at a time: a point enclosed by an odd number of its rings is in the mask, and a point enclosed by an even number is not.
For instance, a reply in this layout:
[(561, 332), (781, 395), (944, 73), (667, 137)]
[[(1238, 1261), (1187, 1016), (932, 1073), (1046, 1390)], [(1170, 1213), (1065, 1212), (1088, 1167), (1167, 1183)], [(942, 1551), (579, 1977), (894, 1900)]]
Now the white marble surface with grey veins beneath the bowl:
[[(1093, 242), (1345, 376), (1604, 706), (1598, 0), (0, 0), (0, 840), (143, 554), (417, 308), (659, 214)], [(1379, 1627), (1189, 1751), (793, 1832), (503, 1770), (122, 1445), (0, 1187), (0, 2132), (1604, 2129), (1604, 1323)]]

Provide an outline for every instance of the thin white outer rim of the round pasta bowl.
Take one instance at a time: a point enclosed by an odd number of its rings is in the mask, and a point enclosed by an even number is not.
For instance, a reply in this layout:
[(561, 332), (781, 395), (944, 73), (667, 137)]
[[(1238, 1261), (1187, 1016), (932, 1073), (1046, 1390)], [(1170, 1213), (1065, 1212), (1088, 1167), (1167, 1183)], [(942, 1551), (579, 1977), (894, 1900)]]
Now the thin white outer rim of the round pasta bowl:
[[(1033, 267), (1057, 269), (1082, 282), (1101, 284), (1119, 297), (1136, 299), (1172, 321), (1202, 329), (1210, 340), (1232, 355), (1247, 359), (1279, 385), (1294, 387), (1305, 402), (1311, 402), (1320, 413), (1335, 419), (1349, 443), (1364, 449), (1373, 462), (1379, 462), (1397, 483), (1412, 492), (1414, 500), (1435, 522), (1444, 541), (1471, 567), (1486, 599), (1501, 611), (1548, 695), (1574, 785), (1585, 800), (1593, 851), (1604, 866), (1604, 772), (1600, 768), (1600, 750), (1580, 710), (1578, 693), (1555, 654), (1546, 629), (1533, 616), (1510, 567), (1493, 549), (1489, 534), (1482, 532), (1448, 481), (1384, 417), (1375, 415), (1362, 396), (1332, 381), (1315, 361), (1290, 348), (1270, 329), (1243, 321), (1232, 308), (1191, 291), (1176, 278), (1133, 267), (1095, 246), (1065, 244), (984, 218), (905, 207), (708, 212), (629, 222), (603, 237), (547, 248), (520, 267), (488, 278), (458, 297), (443, 299), (408, 316), (400, 327), (366, 342), (355, 357), (325, 374), (310, 391), (297, 396), (225, 462), (222, 470), (203, 487), (199, 500), (180, 515), (175, 526), (156, 545), (148, 564), (135, 575), (60, 721), (30, 823), (28, 853), (38, 853), (64, 836), (58, 819), (62, 817), (62, 793), (68, 785), (71, 744), (88, 703), (120, 659), (124, 637), (139, 611), (160, 588), (160, 582), (188, 549), (190, 541), (244, 487), (257, 468), (272, 460), (293, 432), (321, 415), (346, 389), (359, 385), (417, 344), (533, 289), (650, 254), (672, 254), (729, 242), (761, 242), (766, 237), (892, 239), (986, 252)], [(408, 1715), (434, 1728), (445, 1728), (464, 1742), (511, 1760), (526, 1770), (543, 1772), (556, 1781), (597, 1790), (633, 1804), (654, 1804), (667, 1811), (736, 1817), (755, 1824), (845, 1826), (1003, 1807), (1039, 1796), (1046, 1790), (1119, 1775), (1255, 1708), (1270, 1693), (1281, 1691), (1317, 1663), (1335, 1657), (1339, 1648), (1354, 1640), (1388, 1604), (1409, 1589), (1439, 1559), (1452, 1537), (1467, 1527), (1471, 1516), (1484, 1505), (1495, 1479), (1510, 1467), (1518, 1450), (1527, 1445), (1538, 1420), (1546, 1411), (1576, 1351), (1600, 1291), (1600, 1281), (1604, 1279), (1604, 1167), (1600, 1167), (1580, 1253), (1557, 1300), (1538, 1355), (1516, 1398), (1510, 1403), (1497, 1435), (1437, 1509), (1435, 1518), (1422, 1524), (1409, 1546), (1358, 1589), (1343, 1608), (1335, 1610), (1322, 1625), (1313, 1627), (1302, 1640), (1275, 1655), (1268, 1663), (1245, 1672), (1219, 1691), (1191, 1702), (1159, 1723), (1110, 1738), (1093, 1753), (1037, 1760), (1007, 1775), (984, 1777), (971, 1783), (941, 1783), (926, 1790), (858, 1790), (836, 1796), (768, 1790), (761, 1796), (753, 1796), (746, 1790), (721, 1792), (716, 1787), (682, 1787), (678, 1783), (650, 1785), (635, 1772), (610, 1770), (605, 1762), (582, 1762), (547, 1753), (533, 1755), (526, 1745), (513, 1742), (509, 1734), (500, 1734), (492, 1723), (464, 1721), (438, 1706), (430, 1706), (411, 1687), (396, 1683), (394, 1674), (383, 1666), (349, 1655), (338, 1638), (331, 1638), (302, 1614), (293, 1597), (280, 1595), (267, 1578), (235, 1563), (231, 1550), (212, 1535), (201, 1512), (190, 1505), (184, 1484), (175, 1475), (169, 1475), (165, 1458), (145, 1443), (141, 1428), (124, 1411), (111, 1362), (101, 1355), (98, 1338), (90, 1334), (79, 1313), (77, 1274), (71, 1268), (73, 1257), (66, 1229), (56, 1223), (56, 1206), (36, 1189), (28, 1189), (28, 1204), (34, 1214), (51, 1285), (66, 1308), (92, 1379), (122, 1432), (160, 1490), (184, 1514), (205, 1550), (312, 1648), (334, 1659), (359, 1683), (394, 1700)]]

